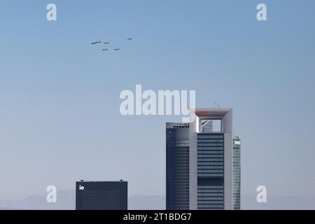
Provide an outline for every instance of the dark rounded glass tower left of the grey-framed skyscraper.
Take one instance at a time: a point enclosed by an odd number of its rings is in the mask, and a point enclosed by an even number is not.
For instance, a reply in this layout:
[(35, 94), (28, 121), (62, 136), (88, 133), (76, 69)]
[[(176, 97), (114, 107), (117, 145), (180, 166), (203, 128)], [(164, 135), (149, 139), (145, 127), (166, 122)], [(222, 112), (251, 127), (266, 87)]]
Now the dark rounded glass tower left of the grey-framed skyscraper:
[(167, 210), (189, 209), (189, 124), (167, 123)]

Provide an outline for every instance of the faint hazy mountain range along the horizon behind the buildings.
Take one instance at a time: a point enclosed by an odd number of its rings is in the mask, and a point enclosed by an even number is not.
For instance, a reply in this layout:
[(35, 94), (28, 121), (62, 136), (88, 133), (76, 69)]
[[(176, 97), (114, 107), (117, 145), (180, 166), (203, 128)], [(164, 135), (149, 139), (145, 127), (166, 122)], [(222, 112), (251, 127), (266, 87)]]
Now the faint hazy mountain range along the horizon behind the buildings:
[[(267, 203), (257, 203), (254, 196), (241, 197), (241, 209), (315, 209), (315, 197), (267, 197)], [(38, 209), (73, 210), (76, 209), (74, 190), (59, 190), (57, 203), (48, 204), (46, 195), (32, 195), (21, 202), (0, 200), (0, 210)], [(130, 210), (165, 210), (165, 196), (132, 195), (128, 198)]]

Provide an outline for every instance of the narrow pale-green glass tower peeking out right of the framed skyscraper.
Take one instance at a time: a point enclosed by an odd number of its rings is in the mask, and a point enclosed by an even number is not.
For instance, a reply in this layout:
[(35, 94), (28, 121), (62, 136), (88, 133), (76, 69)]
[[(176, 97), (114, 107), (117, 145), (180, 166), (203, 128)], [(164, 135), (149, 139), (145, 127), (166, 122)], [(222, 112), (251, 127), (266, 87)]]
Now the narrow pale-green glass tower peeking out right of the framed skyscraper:
[(233, 139), (233, 209), (241, 209), (241, 138)]

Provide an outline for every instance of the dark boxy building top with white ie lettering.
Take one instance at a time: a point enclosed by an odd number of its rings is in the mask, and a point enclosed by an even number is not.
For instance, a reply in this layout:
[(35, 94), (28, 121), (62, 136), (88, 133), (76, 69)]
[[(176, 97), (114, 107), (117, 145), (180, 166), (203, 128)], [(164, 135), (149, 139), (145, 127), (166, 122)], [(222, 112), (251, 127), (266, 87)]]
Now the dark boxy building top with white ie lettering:
[(127, 210), (127, 182), (76, 182), (76, 210)]

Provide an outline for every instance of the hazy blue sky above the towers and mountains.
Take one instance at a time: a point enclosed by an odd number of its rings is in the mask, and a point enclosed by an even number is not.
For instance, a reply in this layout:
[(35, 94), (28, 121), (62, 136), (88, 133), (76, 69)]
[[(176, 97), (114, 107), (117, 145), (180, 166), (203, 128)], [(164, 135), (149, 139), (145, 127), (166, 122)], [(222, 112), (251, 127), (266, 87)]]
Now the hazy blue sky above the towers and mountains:
[[(267, 4), (267, 22), (256, 20)], [(45, 18), (57, 5), (57, 21)], [(1, 1), (0, 199), (129, 181), (165, 195), (165, 123), (119, 94), (196, 90), (234, 109), (241, 193), (314, 196), (315, 1)], [(133, 41), (126, 41), (129, 36)], [(92, 41), (110, 41), (90, 45)]]

